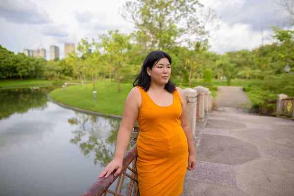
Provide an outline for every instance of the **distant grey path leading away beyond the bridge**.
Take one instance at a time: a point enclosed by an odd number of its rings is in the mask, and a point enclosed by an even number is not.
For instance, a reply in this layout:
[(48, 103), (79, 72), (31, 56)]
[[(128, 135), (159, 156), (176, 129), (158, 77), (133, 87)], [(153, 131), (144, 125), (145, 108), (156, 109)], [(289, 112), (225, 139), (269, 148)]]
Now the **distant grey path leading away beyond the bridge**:
[(219, 86), (216, 101), (221, 107), (250, 108), (251, 106), (243, 87), (237, 86)]

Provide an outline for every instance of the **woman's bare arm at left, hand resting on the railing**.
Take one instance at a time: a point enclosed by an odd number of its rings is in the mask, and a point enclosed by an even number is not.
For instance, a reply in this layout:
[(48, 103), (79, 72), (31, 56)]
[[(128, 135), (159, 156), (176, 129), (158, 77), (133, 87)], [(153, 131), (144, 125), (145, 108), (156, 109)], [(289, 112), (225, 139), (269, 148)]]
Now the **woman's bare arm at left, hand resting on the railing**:
[(134, 124), (138, 118), (141, 102), (142, 99), (140, 89), (135, 87), (130, 91), (125, 100), (123, 119), (117, 136), (114, 159), (104, 168), (98, 178), (101, 178), (104, 175), (105, 178), (107, 178), (114, 170), (117, 170), (114, 176), (118, 175), (122, 171), (123, 157), (129, 143)]

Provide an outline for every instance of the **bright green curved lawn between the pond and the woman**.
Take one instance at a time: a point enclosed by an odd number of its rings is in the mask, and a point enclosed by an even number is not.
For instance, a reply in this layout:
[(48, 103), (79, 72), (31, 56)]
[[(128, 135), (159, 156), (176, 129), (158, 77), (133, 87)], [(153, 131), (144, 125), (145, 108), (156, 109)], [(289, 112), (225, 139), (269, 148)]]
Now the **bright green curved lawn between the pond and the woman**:
[[(94, 102), (93, 85), (87, 84), (81, 87), (80, 85), (74, 85), (67, 87), (65, 93), (63, 89), (56, 89), (49, 95), (54, 100), (78, 107), (90, 111), (103, 113), (106, 115), (123, 115), (124, 102), (133, 88), (131, 83), (121, 84), (121, 93), (118, 93), (116, 82), (99, 82), (96, 91), (96, 102)], [(187, 87), (181, 86), (180, 88), (185, 89)], [(211, 91), (215, 98), (216, 91)]]

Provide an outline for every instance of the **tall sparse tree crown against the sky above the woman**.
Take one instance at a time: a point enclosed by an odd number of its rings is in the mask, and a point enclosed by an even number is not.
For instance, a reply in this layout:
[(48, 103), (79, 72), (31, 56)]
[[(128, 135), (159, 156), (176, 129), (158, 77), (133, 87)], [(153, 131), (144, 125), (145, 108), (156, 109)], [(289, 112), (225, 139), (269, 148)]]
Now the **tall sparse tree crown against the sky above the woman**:
[(205, 25), (216, 20), (213, 10), (200, 14), (198, 0), (128, 0), (122, 16), (135, 25), (137, 41), (145, 50), (170, 49), (208, 35)]

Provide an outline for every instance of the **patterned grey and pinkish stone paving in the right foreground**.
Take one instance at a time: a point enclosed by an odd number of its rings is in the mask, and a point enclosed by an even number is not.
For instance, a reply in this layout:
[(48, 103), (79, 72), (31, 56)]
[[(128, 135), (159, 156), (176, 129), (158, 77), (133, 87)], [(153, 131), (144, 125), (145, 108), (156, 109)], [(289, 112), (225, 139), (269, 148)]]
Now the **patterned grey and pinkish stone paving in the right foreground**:
[[(226, 90), (218, 94), (221, 105), (222, 98), (235, 107), (245, 100)], [(294, 196), (294, 121), (225, 107), (212, 112), (182, 195)]]

